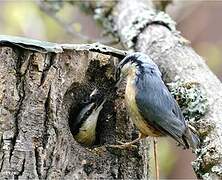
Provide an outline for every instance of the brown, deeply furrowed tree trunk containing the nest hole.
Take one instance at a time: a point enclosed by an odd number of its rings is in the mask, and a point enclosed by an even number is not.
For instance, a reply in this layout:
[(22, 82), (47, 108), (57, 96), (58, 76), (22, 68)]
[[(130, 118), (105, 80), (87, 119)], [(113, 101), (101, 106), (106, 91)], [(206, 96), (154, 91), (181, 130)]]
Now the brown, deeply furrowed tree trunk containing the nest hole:
[(1, 179), (147, 177), (148, 146), (89, 149), (69, 128), (78, 104), (97, 87), (107, 102), (95, 147), (136, 136), (122, 91), (114, 88), (114, 62), (123, 55), (100, 45), (46, 48), (27, 39), (0, 38)]

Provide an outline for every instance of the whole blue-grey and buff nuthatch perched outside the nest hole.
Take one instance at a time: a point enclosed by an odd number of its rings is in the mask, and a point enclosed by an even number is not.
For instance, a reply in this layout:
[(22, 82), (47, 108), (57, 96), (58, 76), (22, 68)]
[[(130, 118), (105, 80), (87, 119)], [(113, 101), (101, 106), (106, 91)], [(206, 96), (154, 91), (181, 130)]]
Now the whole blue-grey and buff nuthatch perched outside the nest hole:
[(126, 56), (118, 65), (116, 77), (119, 81), (127, 78), (126, 106), (142, 137), (168, 135), (185, 148), (198, 146), (198, 136), (189, 129), (161, 72), (149, 56), (143, 53)]

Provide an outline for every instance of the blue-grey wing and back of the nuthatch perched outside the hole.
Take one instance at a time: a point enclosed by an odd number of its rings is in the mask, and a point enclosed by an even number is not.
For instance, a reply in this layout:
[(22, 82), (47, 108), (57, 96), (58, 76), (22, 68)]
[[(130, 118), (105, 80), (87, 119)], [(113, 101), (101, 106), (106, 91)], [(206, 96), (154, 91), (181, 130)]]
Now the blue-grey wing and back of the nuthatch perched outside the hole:
[(145, 73), (143, 78), (137, 79), (136, 85), (136, 103), (143, 118), (163, 134), (184, 144), (185, 120), (161, 77), (155, 72)]

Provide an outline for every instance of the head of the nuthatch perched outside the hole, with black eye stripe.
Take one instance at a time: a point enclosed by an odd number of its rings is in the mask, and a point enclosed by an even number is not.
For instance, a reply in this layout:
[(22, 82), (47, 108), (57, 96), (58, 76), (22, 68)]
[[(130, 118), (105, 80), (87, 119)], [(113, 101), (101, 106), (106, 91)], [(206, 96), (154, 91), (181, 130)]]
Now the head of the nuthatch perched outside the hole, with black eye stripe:
[(156, 71), (157, 75), (161, 77), (161, 72), (153, 60), (146, 54), (135, 52), (127, 55), (117, 66), (115, 77), (117, 81), (125, 78), (130, 70), (136, 70), (137, 75), (143, 75), (147, 70)]

